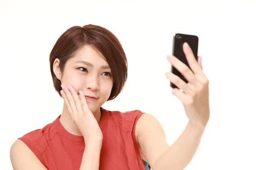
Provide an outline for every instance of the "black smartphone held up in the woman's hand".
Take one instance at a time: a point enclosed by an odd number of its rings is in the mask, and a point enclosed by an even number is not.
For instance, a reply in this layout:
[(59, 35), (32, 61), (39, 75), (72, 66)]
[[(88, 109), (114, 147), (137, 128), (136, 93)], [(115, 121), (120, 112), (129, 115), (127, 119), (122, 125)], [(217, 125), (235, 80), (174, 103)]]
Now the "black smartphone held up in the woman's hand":
[[(172, 55), (177, 57), (181, 62), (185, 63), (188, 67), (189, 64), (187, 62), (186, 56), (183, 52), (183, 43), (187, 42), (190, 46), (190, 48), (193, 51), (193, 54), (195, 56), (195, 59), (198, 60), (198, 37), (196, 35), (189, 35), (189, 34), (175, 34), (173, 36), (173, 42), (172, 42)], [(190, 67), (189, 67), (190, 68)], [(173, 74), (177, 75), (181, 79), (183, 79), (184, 82), (188, 82), (183, 75), (177, 71), (177, 69), (173, 66), (171, 66), (171, 71)], [(175, 84), (170, 82), (171, 88), (178, 88)]]

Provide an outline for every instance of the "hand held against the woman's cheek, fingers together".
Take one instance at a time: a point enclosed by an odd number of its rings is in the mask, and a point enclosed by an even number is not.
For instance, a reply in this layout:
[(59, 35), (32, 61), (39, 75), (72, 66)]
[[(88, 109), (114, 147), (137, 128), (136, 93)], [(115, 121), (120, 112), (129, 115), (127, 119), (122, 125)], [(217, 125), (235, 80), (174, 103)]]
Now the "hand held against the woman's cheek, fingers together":
[(71, 86), (61, 85), (61, 95), (76, 127), (84, 137), (85, 143), (102, 142), (102, 131), (90, 111), (82, 91), (79, 95)]

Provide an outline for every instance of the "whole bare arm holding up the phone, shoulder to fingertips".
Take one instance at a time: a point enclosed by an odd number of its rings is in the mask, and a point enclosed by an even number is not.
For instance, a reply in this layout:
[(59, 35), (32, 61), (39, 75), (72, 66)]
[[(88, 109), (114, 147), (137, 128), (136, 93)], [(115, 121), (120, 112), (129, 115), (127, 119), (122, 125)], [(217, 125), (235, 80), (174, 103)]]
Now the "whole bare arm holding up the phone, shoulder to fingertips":
[(137, 142), (153, 170), (183, 170), (195, 155), (209, 120), (209, 80), (202, 70), (202, 57), (196, 60), (186, 42), (183, 52), (190, 68), (175, 56), (167, 59), (188, 83), (172, 72), (166, 73), (166, 77), (182, 90), (174, 88), (172, 94), (182, 102), (189, 119), (185, 130), (168, 146), (163, 128), (153, 116), (144, 114), (136, 125)]

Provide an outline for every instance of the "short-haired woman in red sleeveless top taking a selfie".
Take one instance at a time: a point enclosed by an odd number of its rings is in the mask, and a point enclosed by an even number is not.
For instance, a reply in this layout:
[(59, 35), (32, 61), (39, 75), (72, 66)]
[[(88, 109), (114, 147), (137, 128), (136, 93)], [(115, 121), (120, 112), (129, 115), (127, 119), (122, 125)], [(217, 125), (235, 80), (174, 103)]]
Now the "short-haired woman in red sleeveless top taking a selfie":
[[(194, 156), (209, 119), (208, 80), (189, 45), (183, 51), (191, 70), (174, 56), (168, 61), (189, 81), (166, 77), (183, 92), (189, 122), (169, 146), (154, 116), (141, 111), (107, 111), (127, 79), (127, 60), (118, 39), (100, 26), (74, 26), (57, 40), (49, 62), (63, 111), (52, 123), (12, 144), (14, 170), (182, 170)], [(144, 164), (143, 164), (144, 163)]]

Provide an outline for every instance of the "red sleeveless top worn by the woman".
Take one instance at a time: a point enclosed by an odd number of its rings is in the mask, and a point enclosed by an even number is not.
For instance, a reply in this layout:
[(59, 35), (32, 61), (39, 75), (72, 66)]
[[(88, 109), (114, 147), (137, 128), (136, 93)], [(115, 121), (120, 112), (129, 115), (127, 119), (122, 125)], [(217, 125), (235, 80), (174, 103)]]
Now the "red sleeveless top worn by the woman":
[[(145, 170), (135, 137), (141, 111), (107, 111), (102, 108), (99, 126), (103, 141), (99, 170)], [(19, 138), (48, 170), (79, 170), (84, 153), (84, 138), (69, 133), (59, 117), (42, 129)]]

